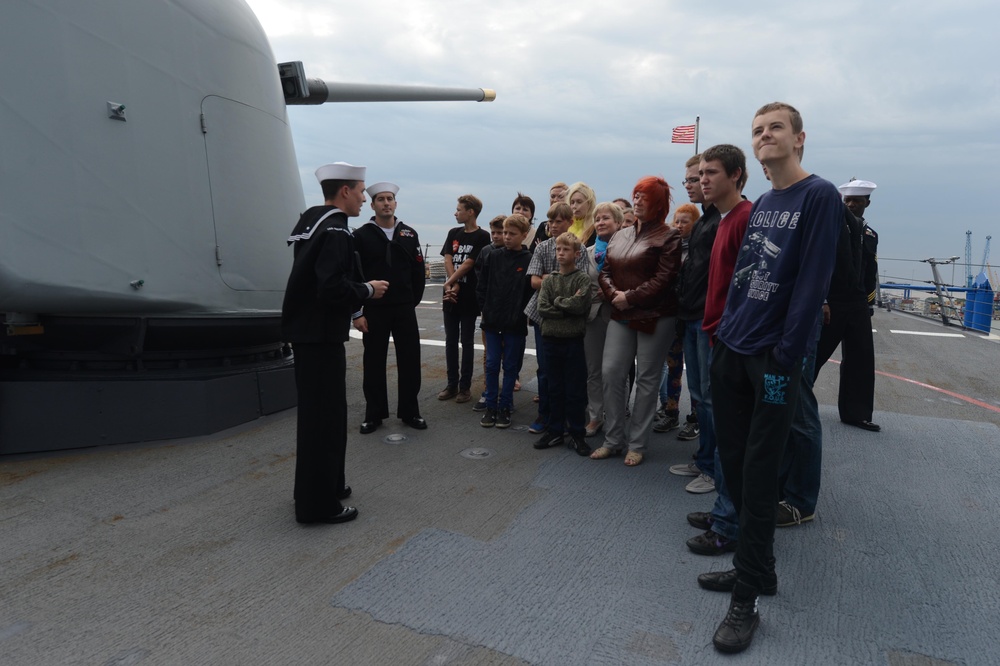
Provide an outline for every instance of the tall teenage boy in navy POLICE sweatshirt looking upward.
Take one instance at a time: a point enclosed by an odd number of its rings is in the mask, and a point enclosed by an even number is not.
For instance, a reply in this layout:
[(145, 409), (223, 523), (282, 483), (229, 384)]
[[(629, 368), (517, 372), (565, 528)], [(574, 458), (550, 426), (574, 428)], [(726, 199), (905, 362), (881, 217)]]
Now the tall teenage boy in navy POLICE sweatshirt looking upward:
[(771, 189), (754, 203), (712, 350), (711, 390), (723, 475), (739, 516), (729, 611), (712, 642), (750, 646), (757, 598), (774, 594), (778, 472), (802, 373), (830, 286), (843, 204), (829, 181), (800, 164), (802, 116), (781, 102), (751, 124), (754, 157)]

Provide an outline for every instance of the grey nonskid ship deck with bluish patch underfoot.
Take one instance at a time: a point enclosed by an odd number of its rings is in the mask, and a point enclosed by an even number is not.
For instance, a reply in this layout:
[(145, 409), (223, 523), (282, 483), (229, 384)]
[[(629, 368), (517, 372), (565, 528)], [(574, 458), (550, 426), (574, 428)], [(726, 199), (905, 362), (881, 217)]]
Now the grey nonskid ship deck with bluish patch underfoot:
[[(421, 324), (443, 340), (436, 309)], [(779, 593), (741, 663), (993, 661), (1000, 414), (977, 386), (996, 386), (1000, 350), (889, 333), (954, 332), (895, 313), (874, 325), (883, 432), (838, 421), (825, 368), (817, 517), (777, 531)], [(348, 349), (360, 369), (360, 343)], [(727, 597), (695, 576), (729, 557), (684, 545), (697, 534), (685, 515), (714, 494), (667, 471), (694, 443), (653, 435), (635, 469), (535, 451), (533, 384), (515, 396), (521, 430), (480, 428), (469, 404), (435, 399), (443, 361), (423, 348), (426, 431), (390, 419), (357, 434), (349, 373), (361, 517), (346, 525), (294, 522), (291, 413), (195, 441), (0, 460), (3, 663), (720, 663)], [(529, 356), (522, 378), (533, 370)]]

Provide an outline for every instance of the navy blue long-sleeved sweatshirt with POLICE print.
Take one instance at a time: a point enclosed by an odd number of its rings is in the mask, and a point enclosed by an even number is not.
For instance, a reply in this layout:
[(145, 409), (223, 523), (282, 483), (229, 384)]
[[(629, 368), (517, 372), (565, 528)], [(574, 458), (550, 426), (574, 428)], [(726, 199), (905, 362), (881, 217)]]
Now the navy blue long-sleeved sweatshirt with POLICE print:
[(801, 362), (830, 287), (843, 211), (837, 188), (816, 175), (757, 199), (719, 324), (727, 347), (770, 350), (786, 369)]

